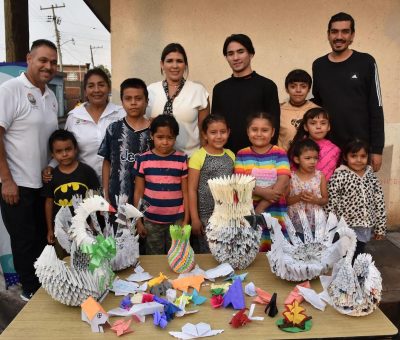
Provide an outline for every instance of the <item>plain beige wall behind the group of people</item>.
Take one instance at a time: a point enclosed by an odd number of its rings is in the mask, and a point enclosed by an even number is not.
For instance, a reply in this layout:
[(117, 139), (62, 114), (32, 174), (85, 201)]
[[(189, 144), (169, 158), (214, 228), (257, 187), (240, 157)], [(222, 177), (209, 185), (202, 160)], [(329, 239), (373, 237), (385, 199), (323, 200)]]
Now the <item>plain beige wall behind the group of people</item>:
[(230, 75), (222, 44), (232, 33), (248, 34), (253, 69), (271, 78), (287, 99), (284, 78), (294, 68), (311, 71), (329, 52), (329, 18), (340, 11), (356, 20), (353, 48), (377, 60), (386, 124), (383, 182), (389, 224), (400, 225), (400, 1), (398, 0), (111, 0), (113, 98), (127, 77), (161, 79), (163, 47), (180, 42), (191, 80), (213, 86)]

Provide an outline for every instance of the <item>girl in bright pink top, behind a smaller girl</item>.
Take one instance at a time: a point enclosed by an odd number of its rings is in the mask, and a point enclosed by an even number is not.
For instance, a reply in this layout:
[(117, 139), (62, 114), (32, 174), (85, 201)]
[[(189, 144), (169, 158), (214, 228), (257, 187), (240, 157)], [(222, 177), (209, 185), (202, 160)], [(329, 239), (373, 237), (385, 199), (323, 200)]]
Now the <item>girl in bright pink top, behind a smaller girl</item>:
[(320, 148), (317, 170), (320, 170), (325, 175), (326, 180), (329, 180), (338, 167), (340, 159), (340, 149), (326, 138), (330, 129), (329, 115), (323, 108), (315, 107), (304, 114), (288, 151), (292, 170), (297, 169), (297, 165), (293, 161), (294, 145), (304, 138), (310, 138)]

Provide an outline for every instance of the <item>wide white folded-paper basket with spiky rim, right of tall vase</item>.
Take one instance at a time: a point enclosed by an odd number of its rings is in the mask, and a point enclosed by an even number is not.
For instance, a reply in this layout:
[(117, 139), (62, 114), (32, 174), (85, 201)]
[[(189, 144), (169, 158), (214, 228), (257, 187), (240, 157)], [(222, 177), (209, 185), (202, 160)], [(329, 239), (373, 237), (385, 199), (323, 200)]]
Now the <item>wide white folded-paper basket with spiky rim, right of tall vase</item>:
[[(263, 214), (267, 227), (271, 230), (271, 251), (266, 254), (271, 271), (288, 281), (305, 281), (328, 272), (346, 254), (354, 253), (356, 235), (346, 222), (339, 222), (334, 214), (326, 219), (322, 210), (315, 211), (315, 233), (311, 231), (306, 214), (299, 211), (304, 240), (297, 234), (285, 215), (289, 240), (282, 233), (277, 219)], [(335, 234), (339, 239), (334, 239)], [(351, 255), (352, 256), (352, 255)]]

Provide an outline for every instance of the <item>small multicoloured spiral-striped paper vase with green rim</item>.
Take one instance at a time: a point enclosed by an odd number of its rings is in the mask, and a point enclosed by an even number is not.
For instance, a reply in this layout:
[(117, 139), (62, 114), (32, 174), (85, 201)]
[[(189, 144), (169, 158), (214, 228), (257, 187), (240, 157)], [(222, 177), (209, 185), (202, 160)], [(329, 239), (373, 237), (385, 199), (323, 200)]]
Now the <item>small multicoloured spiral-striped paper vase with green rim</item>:
[(190, 246), (189, 238), (192, 227), (185, 225), (171, 225), (171, 248), (168, 250), (168, 264), (175, 273), (187, 273), (194, 268), (194, 251)]

